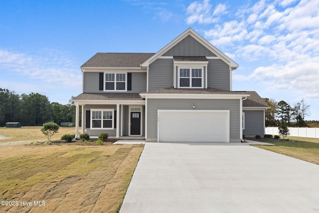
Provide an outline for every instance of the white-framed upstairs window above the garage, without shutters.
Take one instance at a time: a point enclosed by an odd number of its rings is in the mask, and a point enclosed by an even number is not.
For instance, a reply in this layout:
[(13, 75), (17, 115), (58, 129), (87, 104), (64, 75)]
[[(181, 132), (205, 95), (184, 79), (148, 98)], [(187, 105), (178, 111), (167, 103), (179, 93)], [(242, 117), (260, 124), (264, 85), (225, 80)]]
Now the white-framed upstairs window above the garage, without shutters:
[(179, 87), (202, 88), (202, 69), (180, 68)]

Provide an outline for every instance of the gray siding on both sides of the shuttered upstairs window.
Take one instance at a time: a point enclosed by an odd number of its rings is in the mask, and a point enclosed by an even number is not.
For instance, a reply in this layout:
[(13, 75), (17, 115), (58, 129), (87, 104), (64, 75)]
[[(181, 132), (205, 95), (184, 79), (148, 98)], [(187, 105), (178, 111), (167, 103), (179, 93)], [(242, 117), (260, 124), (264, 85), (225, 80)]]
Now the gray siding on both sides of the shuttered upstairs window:
[[(100, 93), (99, 90), (99, 72), (84, 72), (83, 92)], [(132, 90), (125, 93), (146, 92), (146, 72), (132, 72)]]

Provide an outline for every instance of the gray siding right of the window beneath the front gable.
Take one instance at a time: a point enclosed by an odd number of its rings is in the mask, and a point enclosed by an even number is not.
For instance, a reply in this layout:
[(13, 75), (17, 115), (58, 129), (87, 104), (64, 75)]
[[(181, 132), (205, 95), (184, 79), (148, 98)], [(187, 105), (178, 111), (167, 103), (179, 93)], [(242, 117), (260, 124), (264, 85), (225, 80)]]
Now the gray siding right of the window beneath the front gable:
[(221, 59), (208, 60), (207, 77), (207, 87), (230, 90), (229, 66)]

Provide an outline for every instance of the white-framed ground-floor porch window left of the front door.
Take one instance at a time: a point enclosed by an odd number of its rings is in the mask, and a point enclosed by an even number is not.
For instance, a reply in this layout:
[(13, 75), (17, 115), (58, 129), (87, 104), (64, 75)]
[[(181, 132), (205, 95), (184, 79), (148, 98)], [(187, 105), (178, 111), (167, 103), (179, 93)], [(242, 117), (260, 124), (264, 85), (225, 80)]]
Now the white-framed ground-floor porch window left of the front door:
[(91, 129), (114, 129), (114, 109), (91, 109)]

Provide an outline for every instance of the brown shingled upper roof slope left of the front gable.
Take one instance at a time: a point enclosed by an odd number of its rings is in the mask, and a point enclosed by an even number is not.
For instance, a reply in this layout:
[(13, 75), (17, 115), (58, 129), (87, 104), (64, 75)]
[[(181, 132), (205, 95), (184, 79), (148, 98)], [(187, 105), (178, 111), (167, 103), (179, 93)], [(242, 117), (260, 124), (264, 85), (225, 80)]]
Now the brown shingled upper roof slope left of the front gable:
[(155, 53), (96, 53), (81, 67), (140, 67)]

